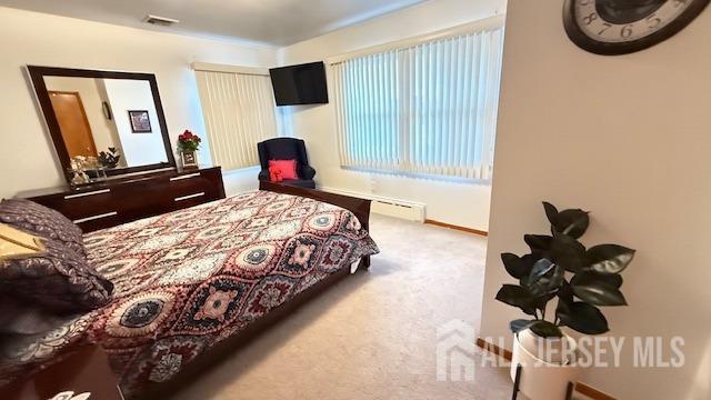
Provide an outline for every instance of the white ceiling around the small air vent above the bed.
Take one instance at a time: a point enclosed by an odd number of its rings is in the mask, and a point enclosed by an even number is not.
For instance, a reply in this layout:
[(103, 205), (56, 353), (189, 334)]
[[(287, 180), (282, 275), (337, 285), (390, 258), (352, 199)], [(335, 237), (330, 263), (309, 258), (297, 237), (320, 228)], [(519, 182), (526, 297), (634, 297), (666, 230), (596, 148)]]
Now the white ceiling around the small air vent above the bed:
[[(127, 27), (288, 46), (424, 0), (0, 0), (0, 6)], [(180, 20), (143, 23), (147, 14)]]

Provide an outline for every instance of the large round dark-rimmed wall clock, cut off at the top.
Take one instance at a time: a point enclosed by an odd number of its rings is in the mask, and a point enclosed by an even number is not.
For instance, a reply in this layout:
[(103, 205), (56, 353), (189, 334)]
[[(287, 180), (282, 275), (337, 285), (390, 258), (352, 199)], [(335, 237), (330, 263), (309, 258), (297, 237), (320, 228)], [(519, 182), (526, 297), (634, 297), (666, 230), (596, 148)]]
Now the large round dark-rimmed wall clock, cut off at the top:
[(687, 27), (711, 0), (565, 0), (563, 23), (580, 48), (625, 54), (664, 41)]

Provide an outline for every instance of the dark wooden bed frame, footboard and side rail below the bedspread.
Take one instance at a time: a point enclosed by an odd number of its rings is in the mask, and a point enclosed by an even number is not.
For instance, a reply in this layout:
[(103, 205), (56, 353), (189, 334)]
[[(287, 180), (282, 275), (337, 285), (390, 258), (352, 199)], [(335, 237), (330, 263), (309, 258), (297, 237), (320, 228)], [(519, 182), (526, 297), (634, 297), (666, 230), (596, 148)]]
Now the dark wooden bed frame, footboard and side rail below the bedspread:
[[(369, 230), (370, 228), (370, 200), (266, 181), (260, 182), (259, 189), (278, 193), (306, 197), (344, 208), (356, 214), (356, 217), (358, 217), (358, 220), (365, 230)], [(359, 269), (367, 269), (368, 267), (370, 267), (370, 256), (363, 257), (359, 264)], [(244, 347), (260, 333), (274, 326), (277, 322), (291, 314), (296, 309), (303, 306), (312, 298), (319, 296), (321, 292), (326, 291), (328, 288), (332, 287), (349, 274), (350, 268), (343, 268), (340, 271), (333, 273), (331, 277), (316, 283), (311, 288), (297, 294), (290, 301), (281, 304), (280, 307), (271, 310), (268, 314), (256, 320), (241, 332), (231, 338), (222, 340), (209, 350), (198, 354), (169, 381), (150, 384), (141, 393), (139, 393), (137, 398), (146, 400), (163, 399), (169, 398), (173, 393), (178, 393), (180, 390), (184, 389), (197, 378), (199, 378), (200, 374), (227, 360), (234, 353), (236, 350)]]

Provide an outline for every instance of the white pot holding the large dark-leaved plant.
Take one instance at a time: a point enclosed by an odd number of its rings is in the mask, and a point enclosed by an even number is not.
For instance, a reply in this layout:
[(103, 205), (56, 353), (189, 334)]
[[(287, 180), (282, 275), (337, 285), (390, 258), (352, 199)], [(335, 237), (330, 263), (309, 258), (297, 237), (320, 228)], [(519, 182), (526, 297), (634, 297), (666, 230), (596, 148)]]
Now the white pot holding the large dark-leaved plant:
[[(572, 356), (562, 357), (564, 349)], [(568, 382), (575, 383), (580, 376), (575, 354), (575, 341), (569, 336), (541, 338), (530, 329), (522, 330), (513, 336), (511, 379), (515, 381), (520, 364), (521, 393), (530, 400), (564, 400)]]

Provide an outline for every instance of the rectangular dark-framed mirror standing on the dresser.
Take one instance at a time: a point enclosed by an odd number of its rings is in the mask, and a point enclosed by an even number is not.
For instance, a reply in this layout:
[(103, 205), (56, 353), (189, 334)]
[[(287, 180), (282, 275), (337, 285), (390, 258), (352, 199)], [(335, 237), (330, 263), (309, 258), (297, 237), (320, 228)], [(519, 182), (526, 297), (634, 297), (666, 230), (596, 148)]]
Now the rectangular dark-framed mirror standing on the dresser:
[(28, 71), (68, 180), (86, 160), (109, 177), (176, 167), (154, 74)]

